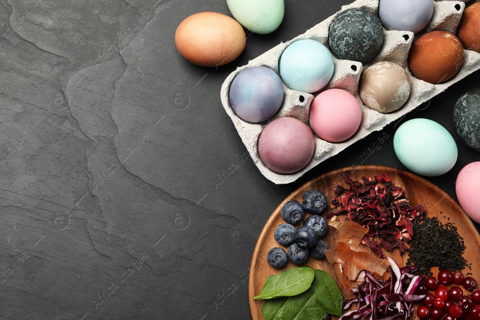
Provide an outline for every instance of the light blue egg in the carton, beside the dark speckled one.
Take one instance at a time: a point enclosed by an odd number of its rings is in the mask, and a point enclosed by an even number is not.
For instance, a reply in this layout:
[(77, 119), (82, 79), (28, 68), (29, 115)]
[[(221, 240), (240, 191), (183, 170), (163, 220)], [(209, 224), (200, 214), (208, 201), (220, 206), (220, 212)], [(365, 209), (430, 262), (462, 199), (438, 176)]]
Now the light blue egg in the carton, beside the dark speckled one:
[(330, 81), (335, 65), (327, 47), (315, 40), (302, 39), (283, 51), (278, 67), (288, 88), (313, 93)]

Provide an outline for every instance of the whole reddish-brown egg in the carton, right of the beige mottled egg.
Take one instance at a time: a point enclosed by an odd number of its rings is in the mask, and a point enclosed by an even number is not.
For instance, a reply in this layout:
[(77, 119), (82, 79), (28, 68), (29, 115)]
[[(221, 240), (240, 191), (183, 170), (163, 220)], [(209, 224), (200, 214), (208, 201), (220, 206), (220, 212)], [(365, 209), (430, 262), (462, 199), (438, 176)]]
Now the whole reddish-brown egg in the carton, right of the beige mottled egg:
[(437, 30), (420, 36), (408, 53), (408, 65), (413, 75), (433, 84), (453, 78), (462, 63), (462, 44), (446, 31)]

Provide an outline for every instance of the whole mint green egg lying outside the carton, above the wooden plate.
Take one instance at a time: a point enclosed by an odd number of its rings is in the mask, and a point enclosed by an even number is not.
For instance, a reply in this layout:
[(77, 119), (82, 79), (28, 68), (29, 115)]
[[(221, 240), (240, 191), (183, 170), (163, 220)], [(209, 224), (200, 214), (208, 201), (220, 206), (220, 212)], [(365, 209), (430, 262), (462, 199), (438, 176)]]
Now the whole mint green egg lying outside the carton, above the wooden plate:
[(404, 166), (427, 177), (448, 172), (458, 157), (452, 135), (429, 119), (411, 119), (402, 124), (395, 132), (393, 146)]

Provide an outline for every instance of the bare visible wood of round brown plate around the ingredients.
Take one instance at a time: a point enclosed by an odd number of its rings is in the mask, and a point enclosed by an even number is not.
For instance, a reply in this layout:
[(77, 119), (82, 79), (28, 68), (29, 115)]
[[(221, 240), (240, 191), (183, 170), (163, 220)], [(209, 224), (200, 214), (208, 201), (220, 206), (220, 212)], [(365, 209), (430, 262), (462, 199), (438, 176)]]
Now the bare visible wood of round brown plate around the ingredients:
[[(252, 262), (250, 264), (248, 295), (253, 320), (264, 319), (261, 311), (263, 300), (253, 300), (253, 297), (260, 293), (265, 279), (271, 274), (277, 274), (283, 270), (295, 267), (292, 262), (288, 261), (285, 267), (281, 269), (274, 269), (268, 264), (268, 262), (266, 262), (266, 254), (268, 250), (273, 247), (281, 247), (275, 241), (273, 234), (277, 225), (285, 223), (280, 216), (280, 209), (282, 208), (282, 205), (290, 200), (297, 200), (301, 202), (303, 193), (311, 189), (319, 189), (324, 191), (330, 205), (330, 202), (334, 198), (333, 190), (336, 185), (342, 183), (343, 186), (345, 186), (345, 181), (342, 175), (347, 169), (348, 168), (337, 169), (305, 183), (299, 189), (290, 194), (284, 201), (282, 201), (282, 203), (280, 203), (280, 205), (268, 219), (264, 229), (262, 230), (262, 233), (260, 234), (260, 237), (257, 240), (255, 250), (253, 251)], [(355, 169), (354, 173), (350, 175), (350, 178), (356, 181), (362, 181), (361, 176), (374, 178), (374, 176), (378, 175), (379, 173), (384, 173), (393, 181), (395, 185), (403, 188), (405, 190), (407, 199), (410, 200), (411, 205), (423, 205), (427, 210), (427, 216), (438, 216), (441, 222), (452, 222), (456, 225), (458, 228), (458, 233), (464, 238), (467, 247), (464, 257), (469, 263), (472, 263), (472, 270), (468, 270), (468, 268), (464, 269), (464, 273), (473, 273), (472, 276), (479, 281), (480, 268), (478, 266), (480, 263), (480, 235), (475, 226), (472, 224), (468, 215), (462, 210), (458, 203), (456, 203), (456, 201), (447, 195), (446, 192), (424, 178), (420, 178), (413, 173), (388, 166), (359, 166), (357, 169)], [(325, 217), (326, 214), (330, 212), (332, 212), (332, 210), (327, 207), (325, 213), (322, 215)], [(338, 216), (340, 219), (337, 219), (339, 221), (344, 221), (345, 217), (345, 215), (340, 215)], [(448, 218), (450, 218), (450, 220), (447, 220)], [(328, 244), (329, 248), (335, 248), (337, 239), (337, 231), (335, 228), (329, 226), (329, 230), (323, 240)], [(284, 247), (284, 249), (287, 250), (288, 248)], [(393, 258), (400, 266), (404, 266), (408, 259), (408, 253), (405, 253), (403, 256), (401, 256), (398, 252), (398, 249), (395, 249), (392, 252), (386, 252), (386, 254)], [(326, 259), (316, 260), (310, 257), (306, 264), (312, 266), (313, 269), (321, 269), (330, 273), (336, 280), (337, 284), (341, 287), (341, 284), (338, 282), (335, 274), (334, 265), (328, 263)], [(434, 275), (437, 274), (437, 271), (438, 269), (432, 270)], [(390, 276), (389, 274), (390, 269), (385, 272), (385, 278), (388, 278)], [(353, 295), (345, 297), (350, 298), (353, 297)], [(338, 319), (336, 316), (332, 316), (332, 318)], [(414, 314), (409, 319), (418, 319), (418, 317), (416, 314)]]

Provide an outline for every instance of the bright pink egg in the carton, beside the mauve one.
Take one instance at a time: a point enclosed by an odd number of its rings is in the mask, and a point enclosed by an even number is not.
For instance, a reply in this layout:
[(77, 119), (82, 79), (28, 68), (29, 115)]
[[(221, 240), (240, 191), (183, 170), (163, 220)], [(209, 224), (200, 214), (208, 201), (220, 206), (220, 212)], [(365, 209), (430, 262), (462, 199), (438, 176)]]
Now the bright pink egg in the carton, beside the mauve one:
[(345, 141), (357, 132), (361, 108), (355, 97), (342, 89), (325, 90), (310, 106), (313, 132), (328, 142)]

